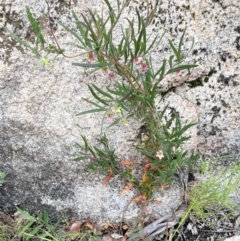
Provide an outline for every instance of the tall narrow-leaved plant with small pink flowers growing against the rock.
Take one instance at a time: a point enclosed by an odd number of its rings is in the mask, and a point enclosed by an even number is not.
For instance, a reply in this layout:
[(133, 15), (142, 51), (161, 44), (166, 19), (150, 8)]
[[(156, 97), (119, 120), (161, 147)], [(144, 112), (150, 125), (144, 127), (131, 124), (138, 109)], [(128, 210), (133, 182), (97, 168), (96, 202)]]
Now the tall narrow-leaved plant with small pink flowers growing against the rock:
[[(190, 138), (184, 136), (184, 133), (195, 123), (182, 125), (174, 109), (166, 106), (158, 110), (155, 103), (156, 98), (161, 95), (158, 86), (167, 75), (179, 75), (181, 71), (197, 65), (184, 62), (191, 51), (191, 49), (182, 50), (185, 29), (177, 47), (169, 40), (172, 55), (164, 59), (160, 66), (154, 67), (152, 62), (153, 54), (156, 54), (154, 49), (161, 42), (163, 35), (157, 35), (151, 40), (151, 36), (147, 36), (147, 27), (151, 23), (156, 8), (149, 11), (146, 18), (136, 10), (136, 19), (127, 18), (128, 26), (124, 29), (120, 28), (118, 23), (129, 0), (122, 3), (117, 0), (116, 11), (108, 0), (104, 1), (108, 8), (107, 17), (89, 9), (88, 16), (82, 14), (81, 19), (74, 11), (72, 12), (76, 30), (59, 23), (78, 41), (78, 45), (74, 46), (82, 51), (79, 55), (87, 55), (87, 63), (75, 62), (73, 65), (89, 68), (91, 73), (100, 70), (110, 81), (104, 88), (95, 84), (88, 85), (94, 100), (84, 100), (94, 108), (78, 115), (103, 112), (103, 121), (110, 121), (109, 127), (119, 123), (129, 125), (130, 120), (137, 122), (140, 126), (138, 142), (134, 143), (133, 147), (145, 160), (142, 163), (141, 177), (134, 176), (134, 160), (119, 163), (115, 151), (109, 148), (106, 134), (103, 133), (99, 140), (102, 149), (89, 146), (86, 137), (82, 136), (81, 156), (75, 158), (75, 161), (88, 160), (89, 168), (100, 169), (107, 174), (105, 184), (113, 175), (120, 173), (128, 185), (125, 190), (135, 186), (139, 191), (139, 197), (142, 197), (142, 200), (148, 200), (152, 197), (154, 190), (171, 184), (179, 168), (191, 165), (197, 158), (194, 153), (190, 155), (181, 148), (182, 144)], [(53, 31), (51, 34), (55, 47), (47, 44), (44, 39), (42, 29), (49, 13), (43, 16), (39, 23), (34, 19), (29, 8), (27, 8), (27, 15), (36, 34), (35, 47), (12, 33), (11, 36), (29, 48), (45, 65), (49, 65), (49, 62), (46, 56), (42, 57), (44, 53), (66, 56)], [(120, 39), (114, 37), (116, 31), (120, 32)], [(170, 115), (166, 115), (167, 110), (170, 110)]]

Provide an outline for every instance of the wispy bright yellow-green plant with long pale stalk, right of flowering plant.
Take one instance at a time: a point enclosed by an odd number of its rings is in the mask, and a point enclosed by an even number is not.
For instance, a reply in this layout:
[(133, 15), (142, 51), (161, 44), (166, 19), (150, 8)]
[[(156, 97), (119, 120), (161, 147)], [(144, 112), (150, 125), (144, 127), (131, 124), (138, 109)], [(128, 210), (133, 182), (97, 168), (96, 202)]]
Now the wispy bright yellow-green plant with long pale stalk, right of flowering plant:
[(197, 181), (186, 190), (188, 207), (169, 241), (190, 215), (200, 222), (217, 215), (221, 210), (227, 210), (230, 214), (240, 210), (232, 199), (232, 195), (240, 187), (239, 163), (225, 168), (217, 166), (216, 162), (211, 160), (201, 162), (202, 180)]

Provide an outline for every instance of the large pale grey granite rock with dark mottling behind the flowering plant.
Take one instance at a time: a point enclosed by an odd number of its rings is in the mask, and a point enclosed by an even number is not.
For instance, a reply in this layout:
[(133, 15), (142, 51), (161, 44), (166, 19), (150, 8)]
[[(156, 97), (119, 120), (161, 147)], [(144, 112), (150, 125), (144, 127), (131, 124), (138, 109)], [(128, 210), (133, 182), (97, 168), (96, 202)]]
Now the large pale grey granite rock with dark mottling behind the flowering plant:
[[(114, 3), (115, 1), (110, 1)], [(134, 17), (137, 7), (144, 15), (147, 5), (155, 2), (132, 0), (124, 16)], [(0, 169), (8, 173), (0, 187), (0, 207), (9, 211), (15, 205), (30, 212), (47, 209), (52, 217), (67, 213), (80, 219), (118, 221), (134, 195), (120, 196), (120, 183), (113, 179), (107, 187), (103, 176), (84, 172), (83, 163), (73, 163), (76, 142), (86, 135), (92, 142), (101, 132), (101, 115), (77, 117), (90, 105), (87, 83), (106, 84), (101, 73), (89, 75), (72, 66), (72, 59), (58, 57), (47, 68), (34, 59), (19, 43), (7, 37), (7, 27), (27, 41), (33, 41), (25, 5), (40, 17), (47, 5), (36, 0), (2, 0), (0, 3)], [(71, 9), (77, 14), (86, 9), (107, 9), (100, 0), (49, 0), (53, 21), (69, 26)], [(76, 54), (67, 45), (71, 37), (53, 26), (66, 54)], [(182, 76), (171, 76), (161, 85), (168, 91), (164, 104), (179, 111), (183, 121), (197, 121), (192, 128), (189, 148), (207, 156), (234, 154), (240, 151), (240, 2), (239, 0), (166, 0), (158, 1), (150, 31), (162, 34), (163, 43), (156, 49), (155, 63), (169, 56), (168, 38), (174, 43), (187, 27), (185, 50), (195, 45), (188, 58), (199, 67)], [(116, 33), (117, 35), (118, 33)], [(83, 61), (82, 57), (74, 62)], [(161, 105), (160, 105), (161, 107)], [(137, 126), (136, 126), (137, 128)], [(126, 140), (136, 130), (120, 126), (108, 135), (117, 148), (120, 160), (134, 158)], [(162, 204), (152, 206), (156, 216), (181, 204), (177, 185), (164, 192)], [(137, 216), (131, 204), (127, 218)]]

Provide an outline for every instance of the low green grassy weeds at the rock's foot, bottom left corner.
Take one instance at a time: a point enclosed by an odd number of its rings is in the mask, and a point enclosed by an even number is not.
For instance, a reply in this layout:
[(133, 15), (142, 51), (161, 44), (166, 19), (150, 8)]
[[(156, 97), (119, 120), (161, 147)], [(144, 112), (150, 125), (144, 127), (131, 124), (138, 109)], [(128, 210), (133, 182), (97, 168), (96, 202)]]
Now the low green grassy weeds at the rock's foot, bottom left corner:
[(17, 208), (18, 212), (12, 218), (0, 212), (1, 241), (100, 241), (97, 230), (82, 230), (71, 232), (68, 222), (50, 221), (46, 211), (37, 216)]

